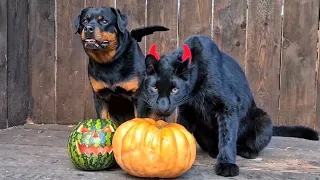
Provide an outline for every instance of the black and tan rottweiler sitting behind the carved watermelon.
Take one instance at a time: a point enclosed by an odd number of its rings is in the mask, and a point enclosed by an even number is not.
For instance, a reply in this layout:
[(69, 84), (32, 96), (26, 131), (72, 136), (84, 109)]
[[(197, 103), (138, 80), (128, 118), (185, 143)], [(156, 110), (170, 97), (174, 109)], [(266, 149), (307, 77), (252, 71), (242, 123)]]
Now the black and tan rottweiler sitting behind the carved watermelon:
[(89, 57), (88, 76), (98, 118), (112, 119), (117, 125), (136, 117), (135, 94), (145, 71), (144, 54), (138, 42), (164, 26), (126, 28), (128, 16), (113, 7), (88, 7), (75, 17)]

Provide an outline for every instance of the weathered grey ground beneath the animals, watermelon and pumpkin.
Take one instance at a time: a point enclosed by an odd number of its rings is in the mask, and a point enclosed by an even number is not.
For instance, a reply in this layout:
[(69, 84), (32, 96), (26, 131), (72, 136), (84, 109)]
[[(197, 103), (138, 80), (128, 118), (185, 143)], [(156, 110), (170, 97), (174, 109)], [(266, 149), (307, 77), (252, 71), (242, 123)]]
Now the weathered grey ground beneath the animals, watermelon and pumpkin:
[[(69, 161), (67, 139), (72, 127), (25, 125), (0, 130), (0, 179), (138, 179), (119, 167), (85, 172)], [(320, 180), (320, 142), (273, 137), (257, 159), (238, 156), (240, 175), (215, 175), (215, 159), (198, 149), (193, 167), (177, 179), (308, 179)]]

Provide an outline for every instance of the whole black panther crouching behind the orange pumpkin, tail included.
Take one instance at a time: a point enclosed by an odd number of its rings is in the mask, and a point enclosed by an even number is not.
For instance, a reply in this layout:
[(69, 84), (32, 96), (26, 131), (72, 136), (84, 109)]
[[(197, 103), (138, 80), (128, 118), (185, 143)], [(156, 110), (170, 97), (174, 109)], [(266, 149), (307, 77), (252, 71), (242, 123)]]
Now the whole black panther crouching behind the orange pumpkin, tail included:
[(179, 107), (178, 123), (194, 134), (200, 147), (217, 158), (215, 172), (237, 176), (236, 155), (255, 158), (271, 136), (319, 140), (306, 127), (276, 127), (255, 104), (247, 78), (232, 57), (207, 37), (194, 35), (185, 44), (192, 60), (181, 60), (183, 48), (161, 56), (146, 56), (146, 74), (139, 95), (138, 116), (151, 110), (170, 115)]

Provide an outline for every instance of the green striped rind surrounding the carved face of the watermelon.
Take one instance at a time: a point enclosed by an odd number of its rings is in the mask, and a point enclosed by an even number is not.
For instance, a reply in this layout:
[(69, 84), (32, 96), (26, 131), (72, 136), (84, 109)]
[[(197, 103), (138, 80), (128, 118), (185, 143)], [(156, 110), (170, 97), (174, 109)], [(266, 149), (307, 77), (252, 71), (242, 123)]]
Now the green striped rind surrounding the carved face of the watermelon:
[[(116, 130), (116, 125), (114, 122), (112, 122), (109, 119), (89, 119), (89, 120), (85, 120), (82, 122), (79, 122), (77, 124), (77, 126), (75, 126), (73, 128), (72, 133), (69, 136), (68, 139), (68, 156), (69, 159), (71, 160), (71, 162), (74, 164), (74, 166), (77, 169), (80, 170), (85, 170), (85, 171), (98, 171), (98, 170), (104, 170), (104, 169), (108, 169), (110, 167), (112, 167), (113, 165), (116, 164), (113, 152), (111, 152), (110, 154), (106, 153), (104, 154), (104, 156), (102, 156), (100, 153), (98, 154), (98, 157), (96, 156), (90, 156), (88, 157), (85, 154), (80, 154), (77, 150), (77, 142), (78, 141), (73, 141), (74, 139), (77, 138), (77, 135), (79, 134), (77, 132), (77, 129), (79, 128), (79, 126), (81, 126), (82, 124), (86, 124), (88, 122), (91, 122), (90, 124), (92, 124), (93, 121), (101, 121), (101, 124), (104, 124), (103, 122), (107, 123), (108, 125), (110, 125), (114, 130)], [(107, 146), (111, 146), (112, 145), (112, 138), (113, 138), (114, 132), (111, 133), (106, 133), (106, 145)], [(109, 141), (108, 141), (109, 140)]]

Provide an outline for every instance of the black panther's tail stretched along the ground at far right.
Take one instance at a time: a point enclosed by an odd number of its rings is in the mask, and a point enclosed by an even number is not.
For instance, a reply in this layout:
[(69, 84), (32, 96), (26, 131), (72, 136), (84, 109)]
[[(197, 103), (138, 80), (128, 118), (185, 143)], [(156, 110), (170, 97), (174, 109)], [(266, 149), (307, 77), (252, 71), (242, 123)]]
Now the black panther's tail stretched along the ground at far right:
[(317, 131), (303, 126), (273, 126), (273, 136), (297, 137), (318, 141)]

